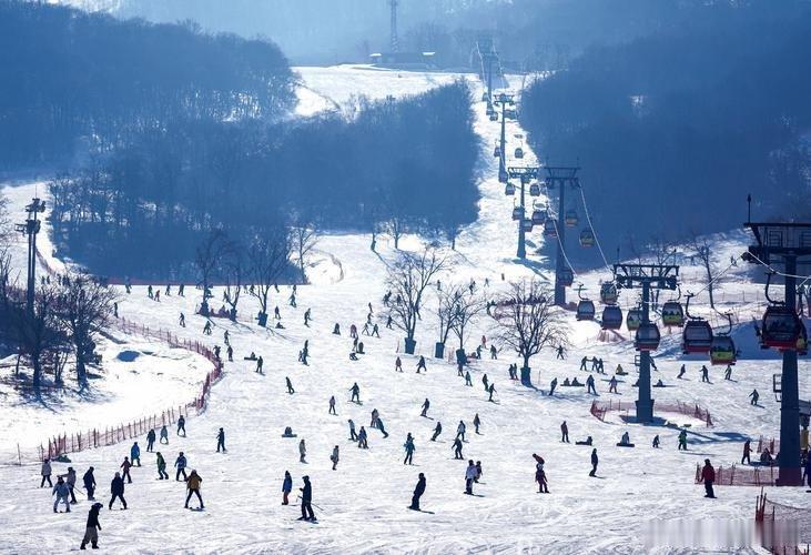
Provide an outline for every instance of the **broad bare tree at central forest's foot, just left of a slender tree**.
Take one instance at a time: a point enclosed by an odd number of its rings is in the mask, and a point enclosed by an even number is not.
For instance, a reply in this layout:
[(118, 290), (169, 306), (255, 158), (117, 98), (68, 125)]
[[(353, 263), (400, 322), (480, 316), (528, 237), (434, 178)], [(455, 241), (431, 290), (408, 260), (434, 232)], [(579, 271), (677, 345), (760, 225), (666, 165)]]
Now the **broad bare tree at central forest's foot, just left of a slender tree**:
[(251, 295), (260, 302), (257, 320), (262, 326), (267, 324), (267, 297), (271, 289), (287, 270), (290, 255), (290, 235), (282, 230), (256, 238), (251, 245), (247, 278), (251, 281)]

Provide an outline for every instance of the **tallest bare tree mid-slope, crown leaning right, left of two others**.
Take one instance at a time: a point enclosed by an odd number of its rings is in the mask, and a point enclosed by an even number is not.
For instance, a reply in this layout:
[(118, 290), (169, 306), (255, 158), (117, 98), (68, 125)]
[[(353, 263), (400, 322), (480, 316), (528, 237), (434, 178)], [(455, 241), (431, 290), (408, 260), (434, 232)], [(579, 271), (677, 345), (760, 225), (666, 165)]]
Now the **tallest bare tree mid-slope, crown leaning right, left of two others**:
[(394, 324), (406, 333), (405, 351), (408, 354), (414, 354), (417, 344), (414, 333), (425, 289), (446, 265), (445, 258), (435, 249), (426, 249), (422, 254), (401, 253), (388, 269), (386, 284), (394, 296), (388, 314)]

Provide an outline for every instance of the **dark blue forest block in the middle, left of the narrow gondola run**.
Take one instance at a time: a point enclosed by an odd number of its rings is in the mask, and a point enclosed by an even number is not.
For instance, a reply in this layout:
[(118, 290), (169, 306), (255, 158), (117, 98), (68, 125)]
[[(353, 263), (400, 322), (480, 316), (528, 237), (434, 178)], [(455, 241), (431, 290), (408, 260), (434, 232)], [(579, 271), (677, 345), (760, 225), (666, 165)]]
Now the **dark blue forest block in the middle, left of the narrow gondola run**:
[[(181, 120), (54, 180), (58, 245), (114, 276), (184, 278), (214, 228), (406, 229), (450, 242), (476, 219), (468, 85), (305, 121)], [(122, 256), (121, 253), (126, 253)]]

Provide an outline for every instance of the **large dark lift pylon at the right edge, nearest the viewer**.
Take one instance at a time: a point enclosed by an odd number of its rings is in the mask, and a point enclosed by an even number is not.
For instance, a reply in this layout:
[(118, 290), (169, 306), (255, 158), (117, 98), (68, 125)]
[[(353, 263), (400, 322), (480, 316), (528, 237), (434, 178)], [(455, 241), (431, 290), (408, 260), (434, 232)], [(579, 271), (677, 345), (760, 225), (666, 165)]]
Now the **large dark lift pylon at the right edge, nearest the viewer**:
[[(749, 199), (751, 205), (751, 199)], [(751, 215), (751, 211), (750, 211)], [(782, 264), (785, 309), (797, 314), (798, 259), (811, 260), (811, 223), (747, 222), (754, 235), (743, 259), (756, 264)], [(801, 323), (802, 325), (802, 323)], [(761, 331), (762, 333), (762, 331)], [(802, 485), (800, 467), (800, 390), (797, 349), (783, 349), (783, 372), (780, 377), (780, 467), (777, 485)]]

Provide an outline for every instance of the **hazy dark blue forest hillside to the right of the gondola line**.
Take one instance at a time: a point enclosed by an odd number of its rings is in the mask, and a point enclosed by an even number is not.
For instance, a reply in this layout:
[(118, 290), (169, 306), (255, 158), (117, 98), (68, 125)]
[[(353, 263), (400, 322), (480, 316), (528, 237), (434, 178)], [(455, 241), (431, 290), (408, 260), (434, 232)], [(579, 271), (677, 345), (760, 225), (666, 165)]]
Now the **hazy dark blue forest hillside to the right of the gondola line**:
[(523, 98), (536, 151), (582, 165), (611, 252), (740, 226), (747, 193), (757, 216), (808, 215), (809, 3), (717, 2), (696, 16), (591, 49)]

